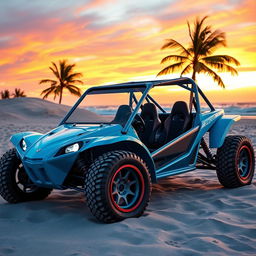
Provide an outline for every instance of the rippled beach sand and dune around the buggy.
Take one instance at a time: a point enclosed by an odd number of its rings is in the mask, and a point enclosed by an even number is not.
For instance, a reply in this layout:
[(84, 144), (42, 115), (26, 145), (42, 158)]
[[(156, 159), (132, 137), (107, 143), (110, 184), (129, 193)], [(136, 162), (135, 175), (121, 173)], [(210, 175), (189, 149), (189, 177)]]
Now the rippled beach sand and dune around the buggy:
[[(46, 132), (69, 108), (38, 99), (33, 104), (31, 99), (21, 101), (26, 109), (14, 100), (5, 106), (0, 101), (0, 154), (11, 147), (11, 134)], [(255, 147), (255, 130), (256, 120), (244, 119), (231, 133), (249, 136)], [(164, 179), (154, 185), (142, 217), (115, 224), (98, 223), (83, 194), (71, 190), (54, 190), (44, 201), (15, 205), (0, 198), (1, 256), (255, 254), (255, 179), (237, 189), (224, 189), (212, 170)]]

